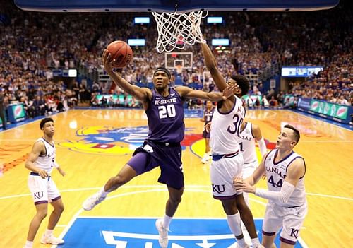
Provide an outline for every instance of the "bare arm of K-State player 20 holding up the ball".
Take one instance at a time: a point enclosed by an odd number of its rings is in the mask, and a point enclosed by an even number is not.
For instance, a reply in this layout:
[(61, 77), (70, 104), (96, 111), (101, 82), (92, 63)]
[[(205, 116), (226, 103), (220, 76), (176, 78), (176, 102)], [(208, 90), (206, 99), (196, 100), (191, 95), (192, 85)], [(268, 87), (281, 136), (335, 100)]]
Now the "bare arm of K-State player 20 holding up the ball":
[(152, 92), (150, 89), (131, 85), (131, 83), (128, 83), (128, 81), (122, 78), (119, 73), (113, 71), (112, 64), (114, 63), (114, 59), (112, 59), (111, 54), (109, 54), (107, 49), (103, 52), (102, 60), (105, 71), (107, 71), (114, 83), (122, 88), (126, 93), (133, 95), (133, 97), (141, 102), (145, 102), (151, 98)]

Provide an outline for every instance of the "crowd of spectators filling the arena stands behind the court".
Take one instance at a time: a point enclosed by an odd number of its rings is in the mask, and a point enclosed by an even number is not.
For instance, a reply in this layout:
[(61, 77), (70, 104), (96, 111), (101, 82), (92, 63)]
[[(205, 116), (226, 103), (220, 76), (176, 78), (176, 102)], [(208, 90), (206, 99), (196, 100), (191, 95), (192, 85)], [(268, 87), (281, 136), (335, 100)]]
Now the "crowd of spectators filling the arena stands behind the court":
[[(316, 98), (352, 105), (350, 7), (352, 3), (342, 0), (334, 9), (310, 13), (209, 13), (223, 16), (225, 22), (203, 22), (201, 29), (208, 41), (213, 37), (229, 38), (229, 49), (216, 53), (226, 78), (232, 73), (256, 74), (272, 64), (323, 66), (318, 75), (292, 83), (287, 93), (296, 99)], [(155, 23), (134, 25), (134, 16), (136, 13), (36, 13), (16, 8), (13, 1), (1, 1), (0, 90), (4, 91), (5, 104), (23, 102), (28, 117), (64, 111), (81, 102), (91, 106), (140, 106), (107, 83), (64, 83), (56, 80), (52, 72), (78, 66), (85, 66), (88, 71), (102, 70), (101, 54), (109, 42), (143, 37), (146, 46), (133, 47), (133, 61), (121, 73), (131, 83), (152, 83), (153, 70), (164, 65), (164, 54), (155, 50)], [(200, 46), (186, 47), (183, 52), (193, 52), (192, 67), (174, 71), (174, 77), (180, 76), (184, 85), (217, 90), (205, 69)], [(269, 107), (286, 107), (286, 93), (263, 90), (261, 81), (251, 86), (251, 94), (261, 95)], [(102, 104), (95, 100), (98, 93), (123, 95), (124, 102), (107, 99)]]

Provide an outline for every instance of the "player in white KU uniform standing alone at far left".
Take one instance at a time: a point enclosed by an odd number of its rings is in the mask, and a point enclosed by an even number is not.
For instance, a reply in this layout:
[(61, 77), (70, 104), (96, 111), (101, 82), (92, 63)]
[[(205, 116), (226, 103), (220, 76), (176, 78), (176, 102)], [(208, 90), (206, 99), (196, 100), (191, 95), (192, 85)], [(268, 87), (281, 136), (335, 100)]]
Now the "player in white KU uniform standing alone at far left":
[(54, 207), (49, 217), (49, 223), (46, 232), (40, 242), (42, 244), (63, 244), (64, 240), (54, 237), (53, 230), (58, 223), (61, 213), (64, 211), (64, 204), (61, 200), (59, 190), (56, 188), (52, 177), (50, 176), (53, 167), (59, 170), (62, 176), (64, 170), (56, 163), (56, 150), (53, 141), (54, 121), (52, 118), (44, 118), (40, 122), (40, 129), (43, 131), (42, 138), (38, 138), (33, 145), (32, 151), (25, 162), (25, 167), (30, 170), (28, 177), (28, 187), (32, 193), (37, 213), (30, 223), (27, 241), (24, 248), (31, 248), (33, 240), (37, 234), (40, 223), (47, 216), (48, 202)]

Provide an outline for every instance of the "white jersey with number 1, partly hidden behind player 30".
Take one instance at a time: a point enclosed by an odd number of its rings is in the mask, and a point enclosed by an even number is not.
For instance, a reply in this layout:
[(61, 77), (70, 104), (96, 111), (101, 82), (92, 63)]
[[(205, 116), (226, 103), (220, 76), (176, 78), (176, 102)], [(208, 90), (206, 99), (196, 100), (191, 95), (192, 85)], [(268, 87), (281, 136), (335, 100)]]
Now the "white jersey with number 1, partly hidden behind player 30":
[(253, 131), (251, 131), (252, 124), (246, 122), (246, 126), (239, 134), (239, 145), (241, 153), (243, 153), (244, 163), (250, 164), (258, 162), (255, 148), (255, 138), (253, 138)]

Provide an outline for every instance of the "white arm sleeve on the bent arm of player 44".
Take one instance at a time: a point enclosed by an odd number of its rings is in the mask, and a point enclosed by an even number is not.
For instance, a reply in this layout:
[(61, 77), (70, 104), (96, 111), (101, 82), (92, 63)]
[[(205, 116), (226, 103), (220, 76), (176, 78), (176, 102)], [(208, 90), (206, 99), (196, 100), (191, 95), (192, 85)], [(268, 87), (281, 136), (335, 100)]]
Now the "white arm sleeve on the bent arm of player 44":
[(295, 187), (293, 184), (285, 181), (282, 184), (280, 191), (269, 191), (266, 189), (256, 189), (256, 196), (260, 196), (262, 198), (276, 201), (277, 203), (287, 203), (289, 197), (292, 195)]

